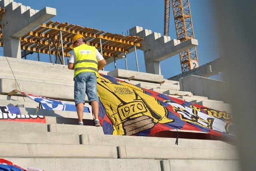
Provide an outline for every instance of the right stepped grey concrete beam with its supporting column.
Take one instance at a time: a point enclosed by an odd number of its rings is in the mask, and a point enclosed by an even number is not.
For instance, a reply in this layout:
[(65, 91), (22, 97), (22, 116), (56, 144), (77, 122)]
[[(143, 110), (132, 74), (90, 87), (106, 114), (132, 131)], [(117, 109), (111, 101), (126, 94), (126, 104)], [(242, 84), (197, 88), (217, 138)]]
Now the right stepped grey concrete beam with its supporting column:
[(146, 64), (146, 72), (152, 74), (161, 74), (160, 61), (170, 58), (176, 54), (184, 52), (198, 45), (196, 39), (190, 39), (185, 42), (180, 40), (170, 40), (168, 36), (161, 36), (151, 30), (143, 30), (142, 27), (135, 26), (129, 29), (132, 36), (143, 38), (140, 50), (144, 52), (144, 60)]

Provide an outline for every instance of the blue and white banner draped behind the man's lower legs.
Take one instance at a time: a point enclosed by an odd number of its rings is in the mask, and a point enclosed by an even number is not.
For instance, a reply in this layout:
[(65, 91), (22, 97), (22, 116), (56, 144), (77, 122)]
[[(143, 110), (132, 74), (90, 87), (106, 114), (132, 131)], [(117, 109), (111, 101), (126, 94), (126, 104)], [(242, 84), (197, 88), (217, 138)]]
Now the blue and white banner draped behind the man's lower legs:
[[(76, 106), (71, 103), (65, 103), (62, 101), (54, 100), (54, 99), (49, 99), (46, 97), (42, 97), (39, 95), (34, 95), (34, 94), (29, 94), (25, 92), (20, 92), (30, 99), (40, 103), (40, 108), (41, 109), (49, 109), (49, 110), (64, 110), (64, 111), (76, 111)], [(90, 107), (84, 106), (84, 112), (90, 113)]]

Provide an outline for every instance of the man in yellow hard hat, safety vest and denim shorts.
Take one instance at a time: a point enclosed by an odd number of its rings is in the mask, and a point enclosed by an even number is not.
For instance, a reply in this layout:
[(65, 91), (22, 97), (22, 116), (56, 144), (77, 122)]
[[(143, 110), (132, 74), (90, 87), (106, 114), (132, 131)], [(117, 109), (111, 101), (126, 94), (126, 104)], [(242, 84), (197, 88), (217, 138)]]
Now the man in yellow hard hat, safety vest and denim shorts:
[(72, 43), (73, 51), (68, 60), (68, 69), (74, 70), (74, 99), (78, 125), (83, 125), (84, 99), (87, 94), (89, 104), (92, 105), (94, 125), (99, 127), (99, 98), (96, 78), (98, 70), (106, 65), (106, 61), (94, 46), (84, 43), (84, 36), (75, 35)]

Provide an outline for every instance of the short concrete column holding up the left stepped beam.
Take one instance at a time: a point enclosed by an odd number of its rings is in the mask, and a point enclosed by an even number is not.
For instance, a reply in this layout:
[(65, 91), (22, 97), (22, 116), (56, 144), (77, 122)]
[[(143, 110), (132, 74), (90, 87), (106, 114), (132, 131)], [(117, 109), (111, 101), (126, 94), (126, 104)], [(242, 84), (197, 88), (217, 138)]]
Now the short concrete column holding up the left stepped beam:
[(4, 41), (4, 56), (21, 59), (20, 39), (9, 37)]

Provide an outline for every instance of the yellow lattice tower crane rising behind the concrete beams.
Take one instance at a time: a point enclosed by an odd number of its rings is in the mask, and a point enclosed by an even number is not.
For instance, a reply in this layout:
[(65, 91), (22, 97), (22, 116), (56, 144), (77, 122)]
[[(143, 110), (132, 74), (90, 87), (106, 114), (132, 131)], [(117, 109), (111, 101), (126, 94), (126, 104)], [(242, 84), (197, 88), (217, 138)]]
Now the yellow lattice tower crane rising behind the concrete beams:
[[(177, 39), (184, 42), (194, 39), (189, 0), (172, 0), (172, 9)], [(164, 36), (168, 36), (170, 16), (170, 0), (164, 0)], [(198, 67), (196, 47), (180, 53), (182, 73)]]

